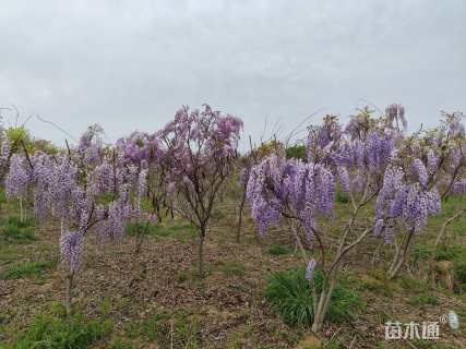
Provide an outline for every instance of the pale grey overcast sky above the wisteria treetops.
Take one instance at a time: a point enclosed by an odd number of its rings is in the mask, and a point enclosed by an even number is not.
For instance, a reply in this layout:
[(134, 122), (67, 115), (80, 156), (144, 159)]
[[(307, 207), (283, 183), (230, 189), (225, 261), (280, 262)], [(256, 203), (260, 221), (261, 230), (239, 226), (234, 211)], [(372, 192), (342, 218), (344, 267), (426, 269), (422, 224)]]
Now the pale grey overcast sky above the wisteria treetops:
[[(204, 103), (254, 139), (265, 120), (286, 133), (367, 101), (433, 125), (466, 111), (465, 63), (464, 0), (0, 2), (0, 106), (76, 137), (95, 122), (108, 141), (156, 131)], [(65, 137), (36, 118), (27, 128)]]

